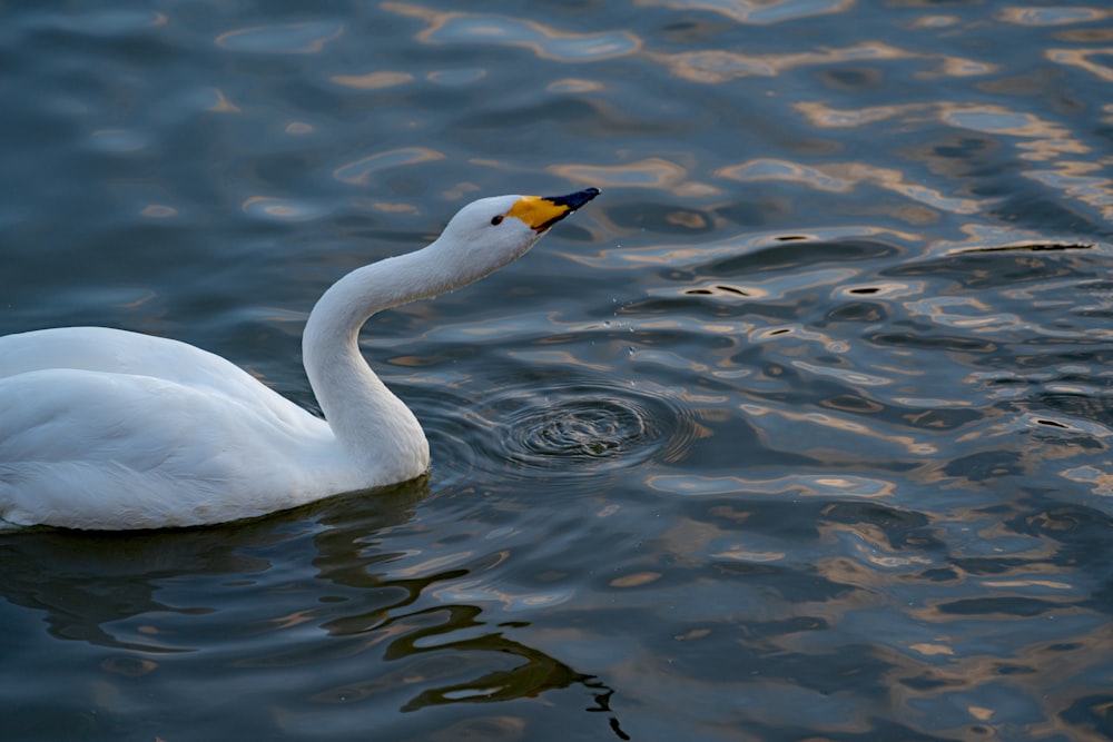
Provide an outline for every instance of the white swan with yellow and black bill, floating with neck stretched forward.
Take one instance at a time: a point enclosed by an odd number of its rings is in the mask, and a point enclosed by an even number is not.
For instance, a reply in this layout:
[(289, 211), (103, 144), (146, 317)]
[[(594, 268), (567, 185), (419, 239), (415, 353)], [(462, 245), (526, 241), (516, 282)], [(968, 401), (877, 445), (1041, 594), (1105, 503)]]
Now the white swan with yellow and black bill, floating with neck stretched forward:
[(0, 337), (0, 520), (6, 527), (196, 526), (422, 475), (425, 434), (367, 366), (361, 327), (376, 311), (516, 260), (598, 195), (483, 198), (427, 247), (341, 278), (302, 336), (323, 419), (177, 340), (105, 327)]

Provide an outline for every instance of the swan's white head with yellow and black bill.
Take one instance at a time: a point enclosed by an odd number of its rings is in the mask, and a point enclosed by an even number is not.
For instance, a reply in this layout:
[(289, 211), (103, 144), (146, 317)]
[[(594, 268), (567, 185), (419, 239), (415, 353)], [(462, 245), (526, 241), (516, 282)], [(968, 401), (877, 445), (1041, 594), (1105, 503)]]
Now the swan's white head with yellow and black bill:
[(481, 198), (452, 217), (437, 243), (485, 275), (520, 258), (550, 227), (598, 195), (598, 188), (588, 188), (567, 196)]

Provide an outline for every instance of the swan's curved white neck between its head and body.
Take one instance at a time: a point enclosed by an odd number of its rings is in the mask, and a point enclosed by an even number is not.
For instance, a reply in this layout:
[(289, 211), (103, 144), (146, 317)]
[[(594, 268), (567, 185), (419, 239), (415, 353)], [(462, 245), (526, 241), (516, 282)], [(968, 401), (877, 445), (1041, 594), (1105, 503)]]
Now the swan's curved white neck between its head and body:
[(386, 388), (359, 353), (359, 328), (382, 309), (452, 288), (424, 250), (352, 271), (314, 306), (302, 337), (309, 385), (345, 455), (387, 481), (420, 475), (429, 443), (413, 413)]

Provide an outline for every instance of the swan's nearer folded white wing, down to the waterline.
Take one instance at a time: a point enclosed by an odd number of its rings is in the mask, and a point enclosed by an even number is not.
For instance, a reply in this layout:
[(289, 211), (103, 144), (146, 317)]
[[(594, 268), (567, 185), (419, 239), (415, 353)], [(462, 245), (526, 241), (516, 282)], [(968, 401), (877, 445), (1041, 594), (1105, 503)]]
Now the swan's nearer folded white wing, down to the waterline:
[(296, 485), (313, 442), (324, 449), (332, 436), (323, 421), (285, 404), (296, 414), (83, 369), (0, 378), (0, 517), (119, 528), (273, 511), (279, 483)]

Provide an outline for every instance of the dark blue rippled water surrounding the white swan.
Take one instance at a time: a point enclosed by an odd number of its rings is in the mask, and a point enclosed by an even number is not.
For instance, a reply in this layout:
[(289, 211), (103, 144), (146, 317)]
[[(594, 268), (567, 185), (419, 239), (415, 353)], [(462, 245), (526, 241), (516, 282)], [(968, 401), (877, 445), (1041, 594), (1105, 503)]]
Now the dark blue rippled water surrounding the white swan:
[(365, 330), (426, 479), (0, 538), (3, 739), (1113, 736), (1100, 3), (0, 14), (3, 333), (312, 408), (332, 280), (603, 189)]

